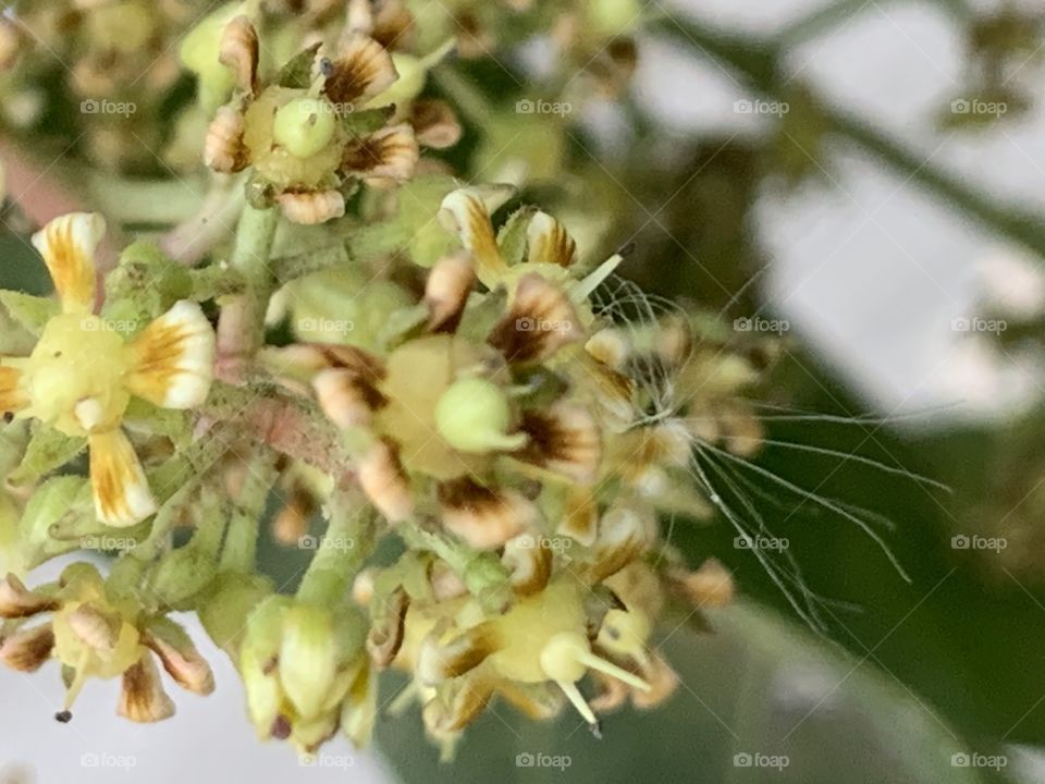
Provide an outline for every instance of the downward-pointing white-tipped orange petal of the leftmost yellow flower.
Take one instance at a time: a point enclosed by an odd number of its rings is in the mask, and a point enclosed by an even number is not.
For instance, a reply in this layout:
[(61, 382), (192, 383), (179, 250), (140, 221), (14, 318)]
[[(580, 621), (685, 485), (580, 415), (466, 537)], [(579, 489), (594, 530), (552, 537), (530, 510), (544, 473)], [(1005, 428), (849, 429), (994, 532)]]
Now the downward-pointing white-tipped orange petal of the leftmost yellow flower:
[(108, 526), (125, 528), (156, 512), (156, 499), (145, 471), (123, 431), (91, 433), (87, 443), (98, 519)]

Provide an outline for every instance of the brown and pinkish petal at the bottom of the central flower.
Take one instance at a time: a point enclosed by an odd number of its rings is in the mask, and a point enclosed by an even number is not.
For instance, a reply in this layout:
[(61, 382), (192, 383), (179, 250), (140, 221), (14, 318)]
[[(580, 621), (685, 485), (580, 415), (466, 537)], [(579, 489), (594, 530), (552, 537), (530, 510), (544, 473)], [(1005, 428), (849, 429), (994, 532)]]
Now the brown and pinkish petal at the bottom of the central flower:
[(467, 477), (441, 483), (439, 502), (446, 529), (478, 550), (501, 547), (537, 519), (536, 509), (519, 493)]

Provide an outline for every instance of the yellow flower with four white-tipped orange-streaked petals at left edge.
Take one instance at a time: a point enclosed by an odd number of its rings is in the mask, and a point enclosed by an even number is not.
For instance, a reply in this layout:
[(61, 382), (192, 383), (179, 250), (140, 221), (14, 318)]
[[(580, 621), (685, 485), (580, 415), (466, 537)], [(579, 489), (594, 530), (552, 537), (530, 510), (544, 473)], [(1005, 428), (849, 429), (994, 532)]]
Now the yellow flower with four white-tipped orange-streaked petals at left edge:
[(0, 358), (0, 411), (86, 437), (98, 519), (131, 526), (156, 512), (145, 471), (120, 429), (132, 396), (193, 408), (213, 378), (214, 333), (199, 306), (176, 303), (130, 343), (94, 315), (99, 215), (56, 218), (33, 235), (62, 313), (27, 358)]

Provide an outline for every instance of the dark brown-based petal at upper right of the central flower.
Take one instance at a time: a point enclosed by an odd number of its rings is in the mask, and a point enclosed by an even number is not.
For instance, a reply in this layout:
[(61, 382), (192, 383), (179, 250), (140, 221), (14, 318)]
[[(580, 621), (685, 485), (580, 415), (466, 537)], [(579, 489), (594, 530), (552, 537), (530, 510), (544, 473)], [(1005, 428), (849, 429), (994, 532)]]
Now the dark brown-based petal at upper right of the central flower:
[(546, 359), (583, 336), (577, 311), (567, 296), (539, 274), (519, 279), (507, 315), (490, 333), (490, 345), (509, 363)]

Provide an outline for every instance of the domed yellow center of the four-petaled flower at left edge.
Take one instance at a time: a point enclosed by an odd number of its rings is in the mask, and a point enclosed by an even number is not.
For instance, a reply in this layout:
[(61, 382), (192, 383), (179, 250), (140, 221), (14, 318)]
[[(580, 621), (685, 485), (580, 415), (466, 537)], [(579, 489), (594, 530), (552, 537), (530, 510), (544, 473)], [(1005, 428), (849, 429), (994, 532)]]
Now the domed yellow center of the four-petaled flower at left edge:
[(33, 416), (66, 436), (115, 427), (131, 395), (123, 339), (97, 316), (52, 318), (26, 366)]

